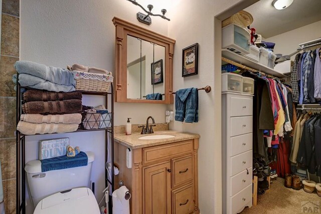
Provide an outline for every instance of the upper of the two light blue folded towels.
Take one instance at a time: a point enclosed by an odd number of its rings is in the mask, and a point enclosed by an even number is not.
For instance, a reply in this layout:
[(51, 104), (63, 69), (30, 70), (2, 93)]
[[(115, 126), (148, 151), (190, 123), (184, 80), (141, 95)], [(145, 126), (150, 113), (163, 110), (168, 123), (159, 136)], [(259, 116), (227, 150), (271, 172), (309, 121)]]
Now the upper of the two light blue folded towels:
[(74, 76), (68, 69), (46, 66), (31, 61), (17, 61), (15, 68), (20, 74), (30, 74), (59, 85), (76, 85)]

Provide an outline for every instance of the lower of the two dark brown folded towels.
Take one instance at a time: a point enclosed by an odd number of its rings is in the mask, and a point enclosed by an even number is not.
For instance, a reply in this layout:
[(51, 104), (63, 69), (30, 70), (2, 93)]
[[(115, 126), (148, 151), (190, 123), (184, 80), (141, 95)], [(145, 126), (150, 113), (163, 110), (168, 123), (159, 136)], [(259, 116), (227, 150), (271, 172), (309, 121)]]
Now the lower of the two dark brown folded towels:
[(82, 102), (79, 99), (61, 101), (31, 101), (22, 105), (25, 114), (65, 114), (81, 113)]

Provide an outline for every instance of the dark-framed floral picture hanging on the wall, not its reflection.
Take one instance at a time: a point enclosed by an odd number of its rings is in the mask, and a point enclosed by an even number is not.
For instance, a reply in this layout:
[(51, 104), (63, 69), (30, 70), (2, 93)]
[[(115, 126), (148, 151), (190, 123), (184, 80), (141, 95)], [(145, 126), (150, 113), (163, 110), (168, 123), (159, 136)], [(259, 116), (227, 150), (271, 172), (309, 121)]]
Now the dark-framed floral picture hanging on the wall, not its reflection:
[(198, 73), (199, 43), (183, 49), (182, 77)]

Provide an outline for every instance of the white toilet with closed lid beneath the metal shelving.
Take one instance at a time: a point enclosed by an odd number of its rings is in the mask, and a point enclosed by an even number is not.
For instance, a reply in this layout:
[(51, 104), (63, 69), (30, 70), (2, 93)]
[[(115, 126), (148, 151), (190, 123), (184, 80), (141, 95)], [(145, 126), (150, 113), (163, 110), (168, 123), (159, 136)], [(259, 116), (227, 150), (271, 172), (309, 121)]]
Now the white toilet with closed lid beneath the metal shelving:
[(29, 161), (25, 166), (34, 214), (100, 213), (96, 198), (88, 188), (93, 152), (86, 152), (88, 165), (41, 172), (41, 161)]

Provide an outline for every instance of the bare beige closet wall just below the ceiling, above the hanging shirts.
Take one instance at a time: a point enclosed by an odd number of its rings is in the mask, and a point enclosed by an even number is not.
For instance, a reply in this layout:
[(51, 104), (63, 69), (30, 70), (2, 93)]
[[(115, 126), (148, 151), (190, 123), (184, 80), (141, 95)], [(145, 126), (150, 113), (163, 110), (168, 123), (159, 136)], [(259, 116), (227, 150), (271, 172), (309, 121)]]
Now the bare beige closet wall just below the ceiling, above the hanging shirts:
[[(308, 42), (321, 37), (321, 21), (285, 32), (265, 39), (268, 42), (274, 42), (274, 53), (289, 55), (296, 51), (299, 44)], [(295, 55), (291, 57), (294, 60)]]

